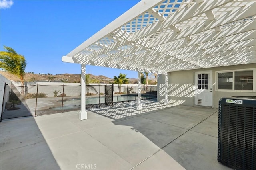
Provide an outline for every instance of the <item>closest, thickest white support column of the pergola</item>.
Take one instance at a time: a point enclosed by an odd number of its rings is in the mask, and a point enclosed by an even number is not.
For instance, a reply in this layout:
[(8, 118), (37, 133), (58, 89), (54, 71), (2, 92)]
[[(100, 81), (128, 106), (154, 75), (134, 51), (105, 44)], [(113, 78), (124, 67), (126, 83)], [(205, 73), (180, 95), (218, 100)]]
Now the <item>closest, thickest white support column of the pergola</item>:
[(87, 119), (87, 112), (85, 110), (85, 97), (86, 97), (85, 74), (86, 74), (85, 65), (81, 64), (81, 111), (79, 112), (80, 120)]

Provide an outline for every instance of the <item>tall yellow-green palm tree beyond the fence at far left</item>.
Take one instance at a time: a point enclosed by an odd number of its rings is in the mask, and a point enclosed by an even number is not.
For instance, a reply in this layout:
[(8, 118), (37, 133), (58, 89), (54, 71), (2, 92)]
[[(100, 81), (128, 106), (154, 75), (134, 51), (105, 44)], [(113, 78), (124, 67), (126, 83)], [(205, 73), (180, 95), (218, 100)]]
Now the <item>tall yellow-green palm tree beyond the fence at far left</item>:
[(0, 51), (0, 68), (20, 78), (22, 85), (21, 94), (24, 94), (26, 59), (23, 55), (16, 53), (11, 47), (4, 46), (4, 49), (6, 51)]

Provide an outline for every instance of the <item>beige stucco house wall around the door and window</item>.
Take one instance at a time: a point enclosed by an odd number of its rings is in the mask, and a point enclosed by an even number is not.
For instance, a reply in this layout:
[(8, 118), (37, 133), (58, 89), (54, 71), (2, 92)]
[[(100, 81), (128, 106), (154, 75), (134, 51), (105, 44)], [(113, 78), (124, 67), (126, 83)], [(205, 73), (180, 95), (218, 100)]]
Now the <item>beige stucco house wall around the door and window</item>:
[[(194, 106), (194, 72), (212, 70), (212, 98), (213, 108), (218, 108), (218, 101), (221, 97), (228, 96), (256, 96), (256, 92), (220, 92), (216, 91), (216, 72), (225, 70), (240, 70), (256, 68), (256, 64), (242, 64), (234, 66), (214, 67), (196, 70), (184, 70), (168, 72), (168, 101), (172, 104)], [(255, 78), (255, 77), (254, 77)], [(255, 86), (255, 84), (254, 84)], [(163, 102), (164, 94), (160, 92), (164, 88), (164, 76), (158, 76), (158, 101)]]

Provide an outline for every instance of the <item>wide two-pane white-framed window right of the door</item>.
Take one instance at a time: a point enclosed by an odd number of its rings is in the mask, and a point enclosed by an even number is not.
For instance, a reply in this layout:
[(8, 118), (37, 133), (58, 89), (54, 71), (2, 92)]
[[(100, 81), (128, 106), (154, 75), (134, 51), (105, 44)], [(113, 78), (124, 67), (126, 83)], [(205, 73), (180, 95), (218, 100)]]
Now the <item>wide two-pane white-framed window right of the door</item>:
[(255, 92), (255, 69), (216, 72), (217, 90)]

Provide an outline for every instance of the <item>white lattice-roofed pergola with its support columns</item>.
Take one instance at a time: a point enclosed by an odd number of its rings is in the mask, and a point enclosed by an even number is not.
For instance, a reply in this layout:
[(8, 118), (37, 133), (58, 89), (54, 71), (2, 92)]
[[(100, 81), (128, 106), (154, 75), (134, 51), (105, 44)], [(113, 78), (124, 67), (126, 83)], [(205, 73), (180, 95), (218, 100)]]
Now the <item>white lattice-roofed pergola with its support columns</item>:
[(81, 64), (80, 119), (85, 65), (164, 74), (167, 103), (167, 72), (256, 63), (255, 18), (254, 0), (141, 0), (62, 57)]

